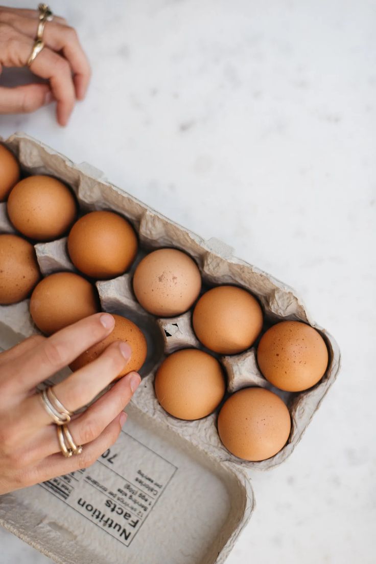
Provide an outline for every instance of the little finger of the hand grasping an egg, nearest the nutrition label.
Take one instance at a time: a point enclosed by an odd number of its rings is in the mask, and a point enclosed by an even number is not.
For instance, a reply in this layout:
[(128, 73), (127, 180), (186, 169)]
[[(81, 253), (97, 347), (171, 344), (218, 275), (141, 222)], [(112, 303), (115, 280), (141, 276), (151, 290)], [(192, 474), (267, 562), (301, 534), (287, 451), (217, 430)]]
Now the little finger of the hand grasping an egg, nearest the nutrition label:
[[(105, 428), (104, 431), (87, 444), (80, 455), (64, 458), (61, 453), (48, 456), (34, 466), (29, 471), (24, 472), (24, 485), (32, 485), (36, 482), (44, 482), (55, 476), (61, 476), (79, 470), (80, 468), (88, 468), (91, 466), (108, 448), (110, 448), (118, 439), (122, 430), (123, 412), (117, 415), (113, 421)], [(122, 422), (120, 422), (122, 418)]]

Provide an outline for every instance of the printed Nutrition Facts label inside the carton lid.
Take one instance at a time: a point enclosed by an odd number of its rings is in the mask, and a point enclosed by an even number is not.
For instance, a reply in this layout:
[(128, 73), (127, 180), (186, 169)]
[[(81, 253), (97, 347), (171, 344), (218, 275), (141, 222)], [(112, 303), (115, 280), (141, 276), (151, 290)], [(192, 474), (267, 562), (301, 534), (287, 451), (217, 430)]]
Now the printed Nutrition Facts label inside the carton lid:
[(176, 470), (122, 431), (90, 468), (40, 485), (128, 547)]

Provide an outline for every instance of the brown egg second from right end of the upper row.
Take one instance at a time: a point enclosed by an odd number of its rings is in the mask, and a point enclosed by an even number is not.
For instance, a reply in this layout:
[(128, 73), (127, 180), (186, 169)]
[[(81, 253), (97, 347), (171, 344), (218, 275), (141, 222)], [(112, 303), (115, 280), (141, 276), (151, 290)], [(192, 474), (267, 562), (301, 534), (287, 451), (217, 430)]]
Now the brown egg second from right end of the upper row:
[(208, 349), (237, 354), (256, 340), (262, 328), (262, 310), (247, 290), (217, 286), (196, 303), (193, 328)]

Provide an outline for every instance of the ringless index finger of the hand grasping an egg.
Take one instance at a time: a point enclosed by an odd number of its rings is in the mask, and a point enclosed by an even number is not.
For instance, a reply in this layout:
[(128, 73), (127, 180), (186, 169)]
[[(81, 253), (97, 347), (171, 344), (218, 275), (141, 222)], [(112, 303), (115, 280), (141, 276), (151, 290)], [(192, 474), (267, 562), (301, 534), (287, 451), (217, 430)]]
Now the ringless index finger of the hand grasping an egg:
[(112, 315), (99, 313), (61, 329), (32, 351), (15, 359), (8, 371), (8, 380), (19, 393), (27, 393), (32, 387), (66, 367), (83, 351), (107, 337), (114, 324)]

